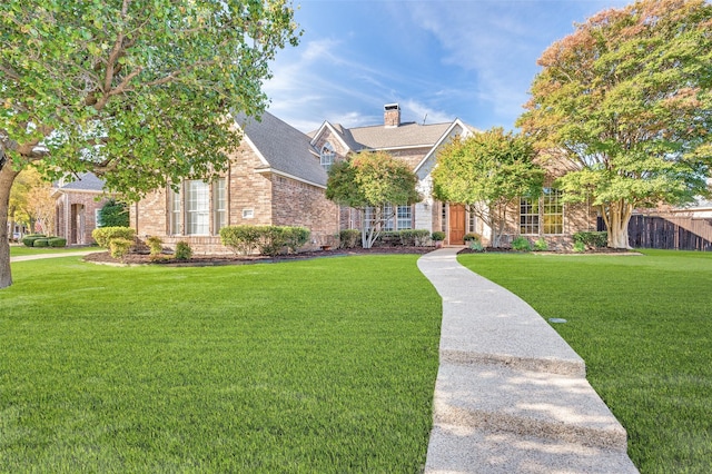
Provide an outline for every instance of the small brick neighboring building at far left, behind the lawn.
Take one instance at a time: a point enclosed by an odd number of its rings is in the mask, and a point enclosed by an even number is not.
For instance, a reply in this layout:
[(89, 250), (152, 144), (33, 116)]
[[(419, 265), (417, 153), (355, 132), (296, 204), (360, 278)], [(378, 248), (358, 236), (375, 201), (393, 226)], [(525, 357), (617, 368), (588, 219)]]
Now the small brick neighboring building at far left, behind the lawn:
[(66, 238), (67, 245), (93, 244), (91, 231), (97, 228), (99, 210), (107, 203), (103, 195), (103, 180), (92, 172), (55, 182), (56, 235)]

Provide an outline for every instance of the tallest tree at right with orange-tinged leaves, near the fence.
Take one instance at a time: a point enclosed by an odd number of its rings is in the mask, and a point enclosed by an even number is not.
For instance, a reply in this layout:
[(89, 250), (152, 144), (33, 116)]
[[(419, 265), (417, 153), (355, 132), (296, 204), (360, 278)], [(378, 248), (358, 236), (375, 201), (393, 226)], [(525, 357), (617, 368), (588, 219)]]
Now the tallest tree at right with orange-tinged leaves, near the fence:
[(609, 246), (629, 247), (636, 207), (709, 192), (712, 4), (644, 0), (602, 11), (538, 60), (517, 125), (572, 171), (564, 198), (591, 199)]

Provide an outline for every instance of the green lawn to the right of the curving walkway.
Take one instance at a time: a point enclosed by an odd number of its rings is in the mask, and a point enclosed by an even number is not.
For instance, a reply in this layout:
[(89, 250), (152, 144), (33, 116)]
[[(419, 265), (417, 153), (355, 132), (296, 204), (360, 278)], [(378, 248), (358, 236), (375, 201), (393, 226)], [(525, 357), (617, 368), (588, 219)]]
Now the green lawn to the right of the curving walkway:
[(642, 473), (712, 466), (712, 254), (464, 255), (530, 303), (585, 359)]

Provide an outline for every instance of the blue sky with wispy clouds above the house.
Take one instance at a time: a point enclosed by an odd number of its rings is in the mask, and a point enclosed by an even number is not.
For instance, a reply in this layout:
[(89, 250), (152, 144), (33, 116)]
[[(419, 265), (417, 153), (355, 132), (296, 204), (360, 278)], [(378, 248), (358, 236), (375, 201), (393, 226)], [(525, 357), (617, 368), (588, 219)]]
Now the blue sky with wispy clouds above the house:
[[(632, 0), (631, 0), (632, 1)], [(300, 45), (278, 53), (269, 111), (301, 131), (461, 118), (514, 129), (536, 60), (620, 0), (295, 0)]]

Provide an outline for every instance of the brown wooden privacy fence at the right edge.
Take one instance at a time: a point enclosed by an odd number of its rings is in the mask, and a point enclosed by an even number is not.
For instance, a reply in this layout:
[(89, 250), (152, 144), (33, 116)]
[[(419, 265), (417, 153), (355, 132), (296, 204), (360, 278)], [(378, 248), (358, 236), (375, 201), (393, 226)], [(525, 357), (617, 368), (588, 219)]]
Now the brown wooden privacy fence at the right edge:
[(631, 247), (712, 251), (712, 219), (633, 216), (627, 236)]

